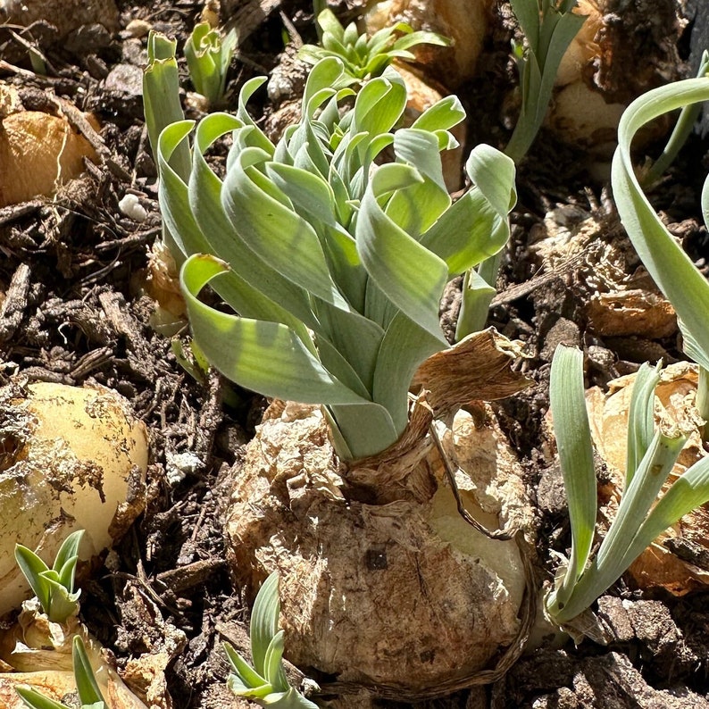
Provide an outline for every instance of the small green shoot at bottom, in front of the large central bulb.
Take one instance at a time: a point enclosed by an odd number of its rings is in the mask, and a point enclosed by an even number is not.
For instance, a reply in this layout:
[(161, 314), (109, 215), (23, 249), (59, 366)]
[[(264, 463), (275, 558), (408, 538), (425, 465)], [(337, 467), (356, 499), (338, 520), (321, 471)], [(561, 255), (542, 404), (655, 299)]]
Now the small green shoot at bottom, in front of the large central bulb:
[(317, 709), (288, 683), (283, 669), (283, 630), (279, 630), (279, 576), (271, 573), (259, 589), (251, 614), (250, 665), (233, 646), (224, 643), (231, 674), (227, 686), (236, 696), (274, 709)]

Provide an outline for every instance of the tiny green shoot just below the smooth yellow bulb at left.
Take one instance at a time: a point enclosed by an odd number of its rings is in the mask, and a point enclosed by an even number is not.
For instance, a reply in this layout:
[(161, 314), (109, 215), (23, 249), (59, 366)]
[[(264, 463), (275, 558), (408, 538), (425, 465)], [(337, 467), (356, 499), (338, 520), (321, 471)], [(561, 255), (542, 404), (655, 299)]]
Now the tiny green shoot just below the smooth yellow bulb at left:
[(72, 532), (59, 547), (50, 569), (27, 546), (15, 546), (15, 559), (43, 613), (52, 622), (63, 623), (79, 609), (81, 590), (74, 591), (74, 572), (79, 561), (79, 544), (84, 530)]

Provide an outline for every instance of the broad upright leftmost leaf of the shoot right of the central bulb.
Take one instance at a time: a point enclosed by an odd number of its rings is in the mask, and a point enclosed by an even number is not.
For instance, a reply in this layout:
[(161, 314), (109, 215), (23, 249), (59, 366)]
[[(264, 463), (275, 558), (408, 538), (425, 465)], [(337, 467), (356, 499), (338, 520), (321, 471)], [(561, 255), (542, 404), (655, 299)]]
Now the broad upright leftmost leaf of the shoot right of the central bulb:
[(596, 469), (584, 398), (583, 354), (578, 348), (556, 347), (549, 403), (571, 521), (571, 558), (556, 592), (563, 607), (584, 571), (596, 527)]

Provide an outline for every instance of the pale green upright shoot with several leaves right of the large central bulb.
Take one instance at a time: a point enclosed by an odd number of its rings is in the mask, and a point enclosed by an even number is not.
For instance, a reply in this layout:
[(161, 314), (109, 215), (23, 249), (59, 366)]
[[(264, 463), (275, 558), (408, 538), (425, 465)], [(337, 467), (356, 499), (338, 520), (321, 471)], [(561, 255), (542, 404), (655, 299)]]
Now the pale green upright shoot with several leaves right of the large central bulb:
[(660, 365), (643, 364), (633, 385), (628, 424), (628, 460), (618, 513), (597, 554), (596, 472), (583, 388), (583, 354), (560, 345), (552, 362), (549, 398), (569, 504), (571, 555), (546, 596), (546, 612), (571, 624), (613, 585), (664, 530), (709, 501), (709, 457), (692, 465), (662, 497), (657, 496), (677, 461), (685, 437), (655, 426), (655, 387)]

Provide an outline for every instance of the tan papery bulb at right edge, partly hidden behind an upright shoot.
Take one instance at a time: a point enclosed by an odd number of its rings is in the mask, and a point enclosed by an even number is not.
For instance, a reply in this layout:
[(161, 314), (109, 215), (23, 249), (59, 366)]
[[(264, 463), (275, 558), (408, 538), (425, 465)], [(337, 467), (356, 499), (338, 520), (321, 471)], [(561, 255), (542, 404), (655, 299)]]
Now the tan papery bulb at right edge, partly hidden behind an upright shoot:
[[(694, 406), (696, 365), (671, 364), (661, 372), (655, 395), (656, 421), (666, 421), (689, 432), (688, 442), (671, 472), (668, 485), (697, 460), (707, 454), (700, 429), (704, 421)], [(628, 409), (635, 375), (609, 382), (605, 395), (599, 388), (587, 393), (589, 421), (596, 450), (611, 473), (611, 480), (600, 490), (605, 502), (601, 513), (612, 520), (618, 506), (625, 469)], [(607, 522), (605, 522), (607, 523)], [(674, 553), (674, 550), (677, 553)], [(702, 559), (709, 553), (709, 509), (706, 505), (685, 515), (674, 527), (657, 538), (652, 546), (630, 566), (629, 574), (639, 588), (664, 588), (682, 596), (709, 586), (709, 568)]]

